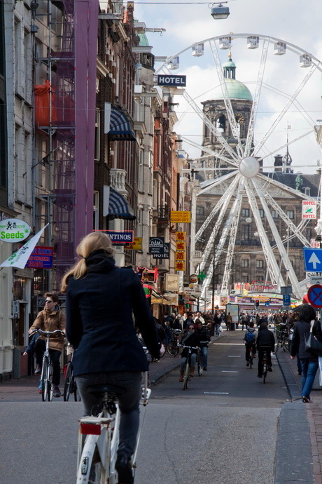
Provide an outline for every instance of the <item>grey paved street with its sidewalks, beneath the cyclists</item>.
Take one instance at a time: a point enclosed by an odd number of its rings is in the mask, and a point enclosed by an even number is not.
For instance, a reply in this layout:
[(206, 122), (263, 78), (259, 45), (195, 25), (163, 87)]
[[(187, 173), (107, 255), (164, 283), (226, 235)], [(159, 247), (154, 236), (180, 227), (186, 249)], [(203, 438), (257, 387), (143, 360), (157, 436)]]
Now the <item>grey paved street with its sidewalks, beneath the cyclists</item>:
[[(209, 347), (209, 370), (196, 375), (187, 391), (179, 368), (172, 369), (179, 358), (166, 355), (152, 363), (156, 384), (136, 483), (151, 484), (151, 469), (154, 484), (321, 483), (322, 396), (314, 391), (309, 405), (291, 401), (299, 391), (296, 363), (287, 353), (278, 356), (287, 385), (276, 358), (266, 384), (255, 367), (246, 368), (240, 330), (216, 338)], [(37, 383), (29, 377), (0, 385), (0, 469), (6, 476), (0, 481), (74, 483), (82, 404), (62, 398), (42, 403)]]

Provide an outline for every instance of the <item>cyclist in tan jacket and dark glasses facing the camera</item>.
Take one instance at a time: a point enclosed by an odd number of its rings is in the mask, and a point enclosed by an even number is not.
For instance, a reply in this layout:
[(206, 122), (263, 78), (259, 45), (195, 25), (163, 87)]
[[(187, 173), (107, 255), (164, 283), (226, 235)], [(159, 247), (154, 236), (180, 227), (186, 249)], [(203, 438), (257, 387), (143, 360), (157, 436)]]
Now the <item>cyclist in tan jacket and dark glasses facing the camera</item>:
[[(29, 335), (34, 330), (43, 331), (55, 331), (61, 330), (65, 331), (66, 328), (66, 317), (64, 313), (59, 309), (59, 299), (56, 293), (46, 293), (45, 294), (45, 309), (38, 313), (34, 324), (29, 328)], [(62, 396), (59, 390), (60, 383), (60, 363), (59, 358), (64, 349), (64, 336), (58, 335), (56, 337), (51, 337), (49, 342), (50, 356), (52, 358), (52, 384), (53, 392), (52, 396), (59, 397)], [(36, 340), (34, 347), (34, 352), (36, 354), (36, 370), (35, 375), (41, 374), (41, 364), (43, 362), (43, 353), (45, 351), (45, 336), (41, 335)], [(39, 390), (41, 392), (41, 390)]]

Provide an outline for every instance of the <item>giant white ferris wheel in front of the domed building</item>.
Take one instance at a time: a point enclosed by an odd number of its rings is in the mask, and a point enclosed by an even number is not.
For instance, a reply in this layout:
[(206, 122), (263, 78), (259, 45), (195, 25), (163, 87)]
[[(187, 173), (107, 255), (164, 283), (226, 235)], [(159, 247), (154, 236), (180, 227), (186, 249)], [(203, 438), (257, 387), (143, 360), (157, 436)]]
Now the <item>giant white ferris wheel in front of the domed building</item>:
[[(195, 58), (193, 64), (191, 54)], [(281, 39), (228, 34), (193, 43), (167, 58), (155, 74), (173, 75), (175, 69), (180, 69), (178, 72), (186, 74), (187, 79), (176, 107), (176, 132), (181, 134), (190, 156), (192, 150), (194, 160), (201, 164), (199, 173), (204, 181), (198, 195), (221, 194), (195, 235), (198, 242), (212, 227), (200, 264), (200, 271), (207, 268), (202, 297), (207, 295), (223, 253), (222, 294), (228, 294), (245, 199), (251, 208), (270, 280), (277, 288), (285, 285), (272, 248), (274, 238), (293, 293), (302, 297), (304, 291), (289, 263), (286, 239), (282, 239), (276, 227), (272, 210), (288, 227), (288, 240), (296, 237), (303, 246), (309, 246), (304, 235), (307, 222), (302, 220), (296, 225), (272, 194), (275, 190), (294, 199), (316, 199), (267, 173), (273, 173), (279, 153), (285, 153), (279, 163), (283, 173), (296, 169), (307, 173), (308, 166), (312, 173), (314, 161), (321, 156), (316, 142), (316, 123), (322, 119), (321, 62)], [(296, 154), (297, 166), (292, 166), (290, 153)], [(262, 214), (267, 220), (265, 227)], [(214, 250), (218, 233), (221, 236)]]

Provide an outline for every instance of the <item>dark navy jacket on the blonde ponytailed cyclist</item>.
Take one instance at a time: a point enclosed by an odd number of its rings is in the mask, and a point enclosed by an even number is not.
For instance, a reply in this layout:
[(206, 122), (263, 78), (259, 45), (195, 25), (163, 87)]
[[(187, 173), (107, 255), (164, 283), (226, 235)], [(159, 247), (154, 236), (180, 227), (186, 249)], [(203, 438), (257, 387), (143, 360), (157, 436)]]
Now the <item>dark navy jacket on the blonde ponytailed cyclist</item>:
[(87, 257), (86, 264), (87, 275), (71, 276), (66, 291), (66, 333), (77, 349), (74, 375), (147, 371), (132, 311), (154, 358), (160, 356), (160, 340), (137, 274), (116, 267), (101, 250)]

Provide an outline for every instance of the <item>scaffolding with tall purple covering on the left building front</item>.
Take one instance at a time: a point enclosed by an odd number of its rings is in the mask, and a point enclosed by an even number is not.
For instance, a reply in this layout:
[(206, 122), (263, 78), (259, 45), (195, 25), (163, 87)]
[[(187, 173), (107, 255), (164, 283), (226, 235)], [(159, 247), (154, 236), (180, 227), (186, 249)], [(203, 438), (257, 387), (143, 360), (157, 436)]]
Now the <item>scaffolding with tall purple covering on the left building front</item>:
[(36, 128), (48, 136), (50, 194), (40, 198), (50, 207), (52, 285), (59, 290), (80, 238), (92, 229), (98, 1), (48, 0), (46, 15), (48, 56), (38, 60), (47, 67), (49, 116), (48, 126)]

